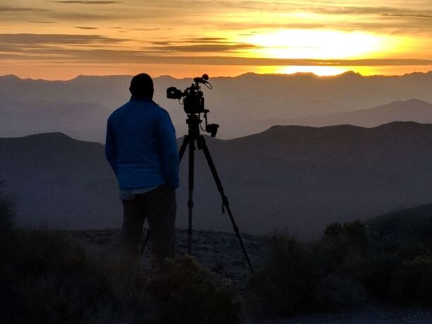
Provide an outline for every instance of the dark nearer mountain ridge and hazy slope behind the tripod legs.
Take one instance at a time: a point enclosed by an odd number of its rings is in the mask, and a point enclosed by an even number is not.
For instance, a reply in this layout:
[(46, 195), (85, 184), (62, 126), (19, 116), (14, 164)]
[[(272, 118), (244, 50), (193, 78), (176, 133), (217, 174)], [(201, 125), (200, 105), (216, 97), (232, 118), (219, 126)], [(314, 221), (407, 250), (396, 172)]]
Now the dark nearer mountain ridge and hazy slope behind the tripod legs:
[[(181, 138), (179, 138), (179, 141)], [(432, 125), (273, 126), (208, 138), (242, 232), (308, 238), (330, 222), (365, 220), (432, 201)], [(121, 205), (103, 146), (51, 133), (0, 139), (0, 179), (20, 221), (75, 229), (119, 227)], [(186, 158), (186, 157), (185, 157)], [(178, 227), (187, 226), (187, 159)], [(232, 231), (202, 152), (196, 153), (194, 227)]]

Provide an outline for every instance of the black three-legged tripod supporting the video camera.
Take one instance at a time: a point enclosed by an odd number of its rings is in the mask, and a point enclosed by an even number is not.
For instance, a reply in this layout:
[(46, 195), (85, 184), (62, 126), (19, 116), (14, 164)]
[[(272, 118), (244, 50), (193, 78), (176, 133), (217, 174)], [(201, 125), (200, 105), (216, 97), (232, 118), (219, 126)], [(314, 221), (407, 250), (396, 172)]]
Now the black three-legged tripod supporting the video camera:
[[(188, 124), (188, 135), (184, 136), (183, 143), (179, 150), (179, 158), (180, 161), (184, 156), (184, 152), (186, 151), (186, 147), (189, 145), (189, 161), (188, 161), (188, 253), (192, 254), (192, 210), (193, 210), (193, 182), (194, 182), (194, 164), (195, 164), (195, 150), (203, 150), (205, 155), (205, 160), (207, 160), (208, 166), (210, 167), (210, 171), (212, 172), (213, 179), (215, 180), (215, 184), (217, 186), (217, 190), (220, 193), (222, 198), (222, 211), (227, 210), (229, 215), (229, 220), (232, 222), (232, 227), (234, 232), (236, 233), (237, 238), (239, 239), (239, 243), (241, 249), (243, 250), (246, 261), (253, 272), (253, 266), (251, 263), (251, 258), (249, 258), (248, 251), (246, 250), (246, 246), (244, 245), (244, 241), (241, 238), (239, 227), (237, 227), (236, 221), (234, 220), (234, 216), (232, 215), (231, 208), (229, 208), (229, 201), (227, 196), (224, 193), (224, 188), (222, 186), (222, 182), (220, 181), (219, 175), (217, 174), (217, 170), (215, 164), (213, 163), (212, 157), (210, 155), (210, 151), (208, 150), (207, 144), (205, 143), (205, 138), (200, 134), (200, 123), (201, 119), (196, 114), (188, 114), (188, 119), (186, 119), (186, 124)], [(196, 143), (196, 146), (195, 146)], [(148, 231), (147, 236), (145, 237), (145, 241), (141, 248), (141, 253), (145, 248), (145, 245), (148, 242), (148, 238), (150, 235), (150, 231)]]

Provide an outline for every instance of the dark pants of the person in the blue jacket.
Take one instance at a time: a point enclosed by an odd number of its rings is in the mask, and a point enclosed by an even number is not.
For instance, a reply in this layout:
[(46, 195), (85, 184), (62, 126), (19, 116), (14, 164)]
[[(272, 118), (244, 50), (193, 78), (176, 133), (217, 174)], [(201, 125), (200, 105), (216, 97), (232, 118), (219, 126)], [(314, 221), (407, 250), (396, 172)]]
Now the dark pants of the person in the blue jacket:
[(155, 262), (174, 257), (176, 237), (176, 191), (164, 185), (123, 203), (121, 241), (132, 256), (138, 256), (145, 219), (150, 229), (150, 244)]

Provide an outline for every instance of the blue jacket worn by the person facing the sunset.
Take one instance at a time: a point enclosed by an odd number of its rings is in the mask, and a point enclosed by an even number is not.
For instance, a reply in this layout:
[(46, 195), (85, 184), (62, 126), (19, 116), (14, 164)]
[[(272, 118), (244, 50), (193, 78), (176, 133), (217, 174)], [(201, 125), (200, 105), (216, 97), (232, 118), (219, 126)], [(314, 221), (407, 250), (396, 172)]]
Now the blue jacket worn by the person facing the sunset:
[(179, 186), (174, 126), (152, 100), (131, 97), (109, 116), (105, 156), (120, 189)]

